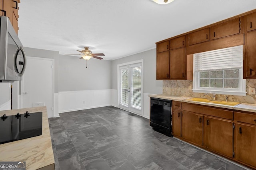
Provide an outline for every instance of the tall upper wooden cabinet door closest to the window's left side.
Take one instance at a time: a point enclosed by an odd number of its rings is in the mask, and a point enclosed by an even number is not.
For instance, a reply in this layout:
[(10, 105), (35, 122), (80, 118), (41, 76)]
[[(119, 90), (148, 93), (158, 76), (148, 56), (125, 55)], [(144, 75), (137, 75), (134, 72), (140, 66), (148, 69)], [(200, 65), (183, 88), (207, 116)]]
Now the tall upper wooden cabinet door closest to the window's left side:
[(186, 48), (170, 51), (170, 79), (186, 78)]

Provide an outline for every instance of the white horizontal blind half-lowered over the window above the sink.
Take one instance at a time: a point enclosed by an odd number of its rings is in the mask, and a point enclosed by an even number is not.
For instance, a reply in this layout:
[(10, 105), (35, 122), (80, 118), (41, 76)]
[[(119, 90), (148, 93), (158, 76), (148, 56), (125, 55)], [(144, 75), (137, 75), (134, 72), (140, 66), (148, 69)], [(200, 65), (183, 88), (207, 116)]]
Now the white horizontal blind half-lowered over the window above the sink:
[(194, 54), (195, 71), (240, 69), (243, 45)]

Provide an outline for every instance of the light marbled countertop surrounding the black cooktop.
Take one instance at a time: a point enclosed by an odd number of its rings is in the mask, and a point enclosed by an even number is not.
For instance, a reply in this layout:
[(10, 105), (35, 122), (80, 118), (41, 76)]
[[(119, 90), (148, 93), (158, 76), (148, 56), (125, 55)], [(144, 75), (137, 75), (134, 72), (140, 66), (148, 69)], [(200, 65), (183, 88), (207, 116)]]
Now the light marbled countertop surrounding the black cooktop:
[(0, 145), (0, 161), (25, 161), (26, 170), (54, 170), (54, 156), (46, 106), (0, 111), (0, 116), (42, 111), (42, 135)]

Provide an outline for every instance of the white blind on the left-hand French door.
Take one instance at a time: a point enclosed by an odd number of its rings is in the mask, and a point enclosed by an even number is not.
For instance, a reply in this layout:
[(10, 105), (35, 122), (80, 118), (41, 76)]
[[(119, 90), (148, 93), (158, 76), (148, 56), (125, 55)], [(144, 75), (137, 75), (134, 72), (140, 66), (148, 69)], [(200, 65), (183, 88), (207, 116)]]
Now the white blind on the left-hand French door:
[(120, 69), (120, 104), (128, 106), (129, 68)]

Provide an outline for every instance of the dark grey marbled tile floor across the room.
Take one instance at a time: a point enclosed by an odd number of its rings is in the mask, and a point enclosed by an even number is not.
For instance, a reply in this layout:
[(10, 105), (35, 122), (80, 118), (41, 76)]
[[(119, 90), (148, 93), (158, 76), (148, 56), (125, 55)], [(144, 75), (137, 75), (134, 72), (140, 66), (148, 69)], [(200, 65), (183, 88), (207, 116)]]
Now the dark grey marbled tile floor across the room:
[(50, 118), (56, 170), (242, 170), (151, 129), (148, 119), (116, 107)]

